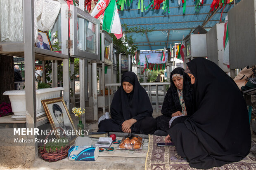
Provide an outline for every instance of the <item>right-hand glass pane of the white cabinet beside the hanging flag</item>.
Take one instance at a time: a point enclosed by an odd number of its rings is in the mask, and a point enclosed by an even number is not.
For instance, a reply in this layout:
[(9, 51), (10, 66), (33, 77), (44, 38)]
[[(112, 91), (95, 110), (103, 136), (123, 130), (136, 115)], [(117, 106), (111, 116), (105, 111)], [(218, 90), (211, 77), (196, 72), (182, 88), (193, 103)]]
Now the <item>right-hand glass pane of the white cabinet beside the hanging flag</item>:
[(86, 29), (86, 51), (96, 53), (96, 25), (90, 21), (86, 21), (88, 24)]

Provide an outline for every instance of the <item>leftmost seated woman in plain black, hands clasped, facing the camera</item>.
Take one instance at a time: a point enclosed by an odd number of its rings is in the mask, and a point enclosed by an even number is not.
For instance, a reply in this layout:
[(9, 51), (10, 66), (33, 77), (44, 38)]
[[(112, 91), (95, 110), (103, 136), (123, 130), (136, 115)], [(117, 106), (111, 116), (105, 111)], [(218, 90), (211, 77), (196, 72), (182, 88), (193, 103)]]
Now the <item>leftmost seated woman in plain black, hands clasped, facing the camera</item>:
[(156, 129), (152, 112), (147, 92), (140, 86), (137, 76), (126, 72), (111, 103), (111, 119), (100, 121), (98, 132), (152, 134)]

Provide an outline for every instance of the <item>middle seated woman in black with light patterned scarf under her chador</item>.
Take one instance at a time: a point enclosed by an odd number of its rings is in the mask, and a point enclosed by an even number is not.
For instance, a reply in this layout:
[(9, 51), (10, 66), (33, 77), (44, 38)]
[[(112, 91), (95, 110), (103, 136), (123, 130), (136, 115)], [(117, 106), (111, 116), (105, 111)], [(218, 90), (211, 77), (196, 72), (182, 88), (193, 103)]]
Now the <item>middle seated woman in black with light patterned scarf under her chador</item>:
[(163, 115), (156, 118), (156, 127), (154, 135), (166, 136), (166, 130), (169, 128), (169, 121), (173, 116), (192, 114), (192, 93), (193, 85), (190, 77), (184, 73), (183, 68), (175, 68), (171, 72), (171, 85), (164, 98), (161, 109)]

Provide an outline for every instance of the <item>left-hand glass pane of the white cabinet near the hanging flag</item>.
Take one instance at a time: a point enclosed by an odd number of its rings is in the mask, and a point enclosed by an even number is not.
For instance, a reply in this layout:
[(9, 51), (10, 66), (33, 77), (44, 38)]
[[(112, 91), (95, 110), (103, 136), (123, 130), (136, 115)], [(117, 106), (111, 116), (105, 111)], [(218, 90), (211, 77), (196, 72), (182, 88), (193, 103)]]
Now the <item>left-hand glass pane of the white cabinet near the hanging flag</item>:
[(77, 49), (85, 51), (85, 28), (86, 21), (77, 17)]

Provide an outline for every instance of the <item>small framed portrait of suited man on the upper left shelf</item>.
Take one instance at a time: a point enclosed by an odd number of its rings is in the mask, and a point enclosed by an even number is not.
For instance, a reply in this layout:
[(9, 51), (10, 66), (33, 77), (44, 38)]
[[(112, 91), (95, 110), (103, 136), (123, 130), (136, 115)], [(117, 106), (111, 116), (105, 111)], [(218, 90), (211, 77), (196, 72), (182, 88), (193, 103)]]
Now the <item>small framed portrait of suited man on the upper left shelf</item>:
[(36, 39), (35, 47), (52, 51), (52, 44), (46, 31), (43, 32), (38, 30), (38, 37)]

